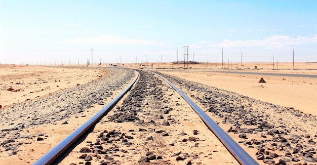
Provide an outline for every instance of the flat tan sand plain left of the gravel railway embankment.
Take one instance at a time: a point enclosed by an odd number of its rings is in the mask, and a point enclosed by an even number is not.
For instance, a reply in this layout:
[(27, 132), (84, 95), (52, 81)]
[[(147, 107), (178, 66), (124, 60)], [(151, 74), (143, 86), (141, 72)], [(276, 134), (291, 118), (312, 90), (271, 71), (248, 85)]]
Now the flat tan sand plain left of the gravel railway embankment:
[(0, 105), (2, 107), (46, 96), (105, 76), (100, 69), (0, 65)]

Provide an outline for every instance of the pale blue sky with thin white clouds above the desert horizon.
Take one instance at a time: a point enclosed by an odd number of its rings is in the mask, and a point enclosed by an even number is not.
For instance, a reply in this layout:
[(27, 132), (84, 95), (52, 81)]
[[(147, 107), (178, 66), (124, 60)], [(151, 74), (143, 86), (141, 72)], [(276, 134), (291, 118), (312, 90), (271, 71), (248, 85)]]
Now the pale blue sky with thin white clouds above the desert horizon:
[[(0, 63), (317, 62), (317, 1), (0, 1)], [(187, 49), (186, 49), (187, 53)], [(194, 54), (194, 56), (192, 56)]]

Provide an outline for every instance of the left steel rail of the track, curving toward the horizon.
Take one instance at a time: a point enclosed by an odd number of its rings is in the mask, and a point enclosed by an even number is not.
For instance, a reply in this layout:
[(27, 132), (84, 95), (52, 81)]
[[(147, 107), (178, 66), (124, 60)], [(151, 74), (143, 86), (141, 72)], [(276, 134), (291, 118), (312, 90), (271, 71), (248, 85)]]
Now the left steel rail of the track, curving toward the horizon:
[(117, 97), (115, 97), (111, 102), (109, 102), (105, 107), (103, 107), (98, 113), (96, 113), (92, 118), (86, 121), (80, 128), (76, 129), (72, 132), (68, 137), (66, 137), (63, 141), (58, 143), (54, 148), (52, 148), (49, 152), (35, 161), (34, 165), (42, 165), (42, 164), (50, 164), (52, 163), (58, 156), (60, 156), (72, 143), (74, 143), (79, 137), (81, 137), (88, 129), (90, 129), (105, 113), (109, 112), (115, 104), (120, 101), (120, 99), (132, 88), (133, 84), (136, 82), (139, 77), (139, 72), (137, 72), (137, 76), (130, 83), (130, 85), (122, 91)]

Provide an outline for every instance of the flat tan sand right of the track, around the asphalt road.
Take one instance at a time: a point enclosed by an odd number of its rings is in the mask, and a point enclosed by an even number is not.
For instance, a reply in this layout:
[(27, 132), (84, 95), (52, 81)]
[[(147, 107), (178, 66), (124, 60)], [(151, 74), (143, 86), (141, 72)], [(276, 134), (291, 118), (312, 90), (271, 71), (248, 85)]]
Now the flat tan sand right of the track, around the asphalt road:
[[(145, 64), (146, 65), (146, 64)], [(185, 64), (185, 68), (186, 68)], [(257, 66), (258, 69), (254, 69)], [(136, 66), (140, 67), (140, 66)], [(144, 66), (143, 66), (144, 67)], [(260, 74), (228, 73), (236, 72), (255, 72), (255, 73), (288, 73), (288, 74), (310, 74), (317, 75), (317, 63), (209, 63), (209, 64), (190, 64), (192, 69), (179, 69), (184, 64), (153, 64), (150, 70), (159, 70), (162, 73), (171, 74), (184, 78), (186, 80), (202, 83), (204, 85), (224, 89), (227, 91), (239, 93), (264, 102), (292, 107), (304, 113), (317, 115), (317, 78), (312, 77), (291, 77), (274, 76)], [(176, 69), (170, 69), (176, 68)], [(189, 68), (188, 67), (188, 68)], [(162, 69), (164, 68), (164, 69)], [(225, 68), (225, 69), (221, 69)], [(216, 72), (221, 71), (221, 72)], [(266, 83), (258, 83), (263, 78)]]

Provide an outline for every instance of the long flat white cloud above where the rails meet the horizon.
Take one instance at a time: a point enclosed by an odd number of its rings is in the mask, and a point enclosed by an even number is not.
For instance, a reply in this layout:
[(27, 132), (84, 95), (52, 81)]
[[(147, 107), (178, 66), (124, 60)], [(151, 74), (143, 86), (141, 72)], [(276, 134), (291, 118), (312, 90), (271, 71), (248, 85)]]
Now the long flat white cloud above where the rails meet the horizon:
[(70, 39), (66, 42), (69, 44), (103, 44), (103, 45), (154, 45), (164, 46), (161, 42), (154, 40), (142, 40), (142, 39), (128, 39), (123, 36), (117, 35), (99, 35), (97, 37), (80, 37), (76, 39)]

